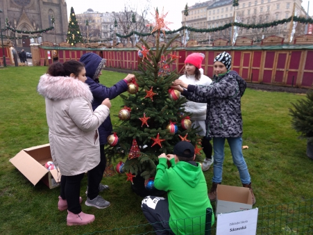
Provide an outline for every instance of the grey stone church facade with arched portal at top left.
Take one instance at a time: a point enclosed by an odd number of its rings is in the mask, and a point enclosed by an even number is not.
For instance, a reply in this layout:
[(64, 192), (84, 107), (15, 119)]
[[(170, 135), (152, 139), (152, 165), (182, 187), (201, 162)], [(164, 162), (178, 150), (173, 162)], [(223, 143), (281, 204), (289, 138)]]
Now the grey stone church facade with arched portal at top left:
[[(11, 28), (19, 31), (38, 31), (47, 29), (52, 25), (51, 17), (55, 18), (55, 29), (42, 33), (42, 38), (36, 37), (39, 34), (15, 33), (5, 31), (3, 35), (15, 38), (24, 38), (11, 40), (15, 47), (29, 48), (29, 44), (49, 41), (53, 43), (65, 42), (67, 35), (67, 3), (65, 0), (1, 0), (0, 13), (1, 29), (6, 25), (6, 18)], [(3, 38), (6, 40), (6, 38)]]

